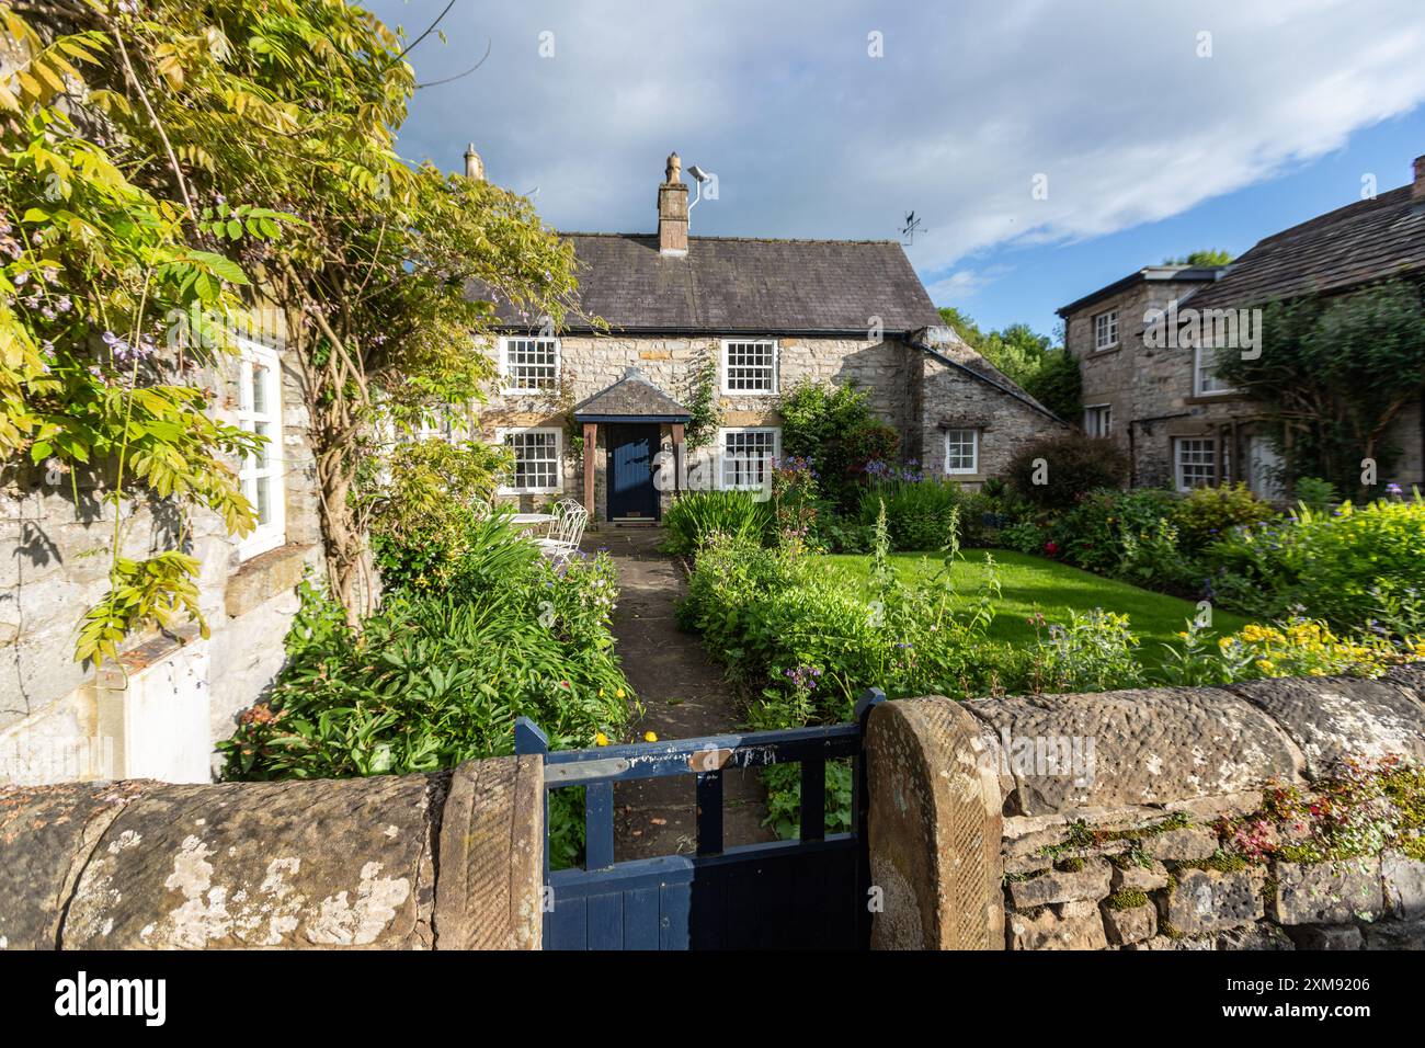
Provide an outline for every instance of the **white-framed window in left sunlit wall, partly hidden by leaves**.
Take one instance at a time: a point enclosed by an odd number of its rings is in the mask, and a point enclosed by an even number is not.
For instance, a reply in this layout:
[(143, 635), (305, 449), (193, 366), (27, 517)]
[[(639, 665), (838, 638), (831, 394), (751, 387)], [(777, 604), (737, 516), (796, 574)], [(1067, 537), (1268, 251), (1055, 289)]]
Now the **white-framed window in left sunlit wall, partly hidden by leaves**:
[(282, 362), (276, 349), (238, 342), (238, 426), (266, 442), (238, 468), (242, 493), (256, 528), (238, 543), (244, 560), (286, 542), (286, 490), (282, 481)]

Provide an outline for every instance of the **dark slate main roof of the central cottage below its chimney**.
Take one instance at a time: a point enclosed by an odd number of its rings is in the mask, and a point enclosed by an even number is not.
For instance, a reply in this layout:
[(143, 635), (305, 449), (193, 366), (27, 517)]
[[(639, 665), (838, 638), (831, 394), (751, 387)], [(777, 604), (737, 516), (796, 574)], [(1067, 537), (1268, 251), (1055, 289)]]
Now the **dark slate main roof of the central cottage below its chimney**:
[[(851, 334), (879, 317), (903, 334), (940, 322), (896, 241), (690, 237), (687, 255), (667, 257), (653, 234), (561, 237), (574, 245), (584, 312), (614, 331)], [(500, 319), (530, 325), (509, 307)]]

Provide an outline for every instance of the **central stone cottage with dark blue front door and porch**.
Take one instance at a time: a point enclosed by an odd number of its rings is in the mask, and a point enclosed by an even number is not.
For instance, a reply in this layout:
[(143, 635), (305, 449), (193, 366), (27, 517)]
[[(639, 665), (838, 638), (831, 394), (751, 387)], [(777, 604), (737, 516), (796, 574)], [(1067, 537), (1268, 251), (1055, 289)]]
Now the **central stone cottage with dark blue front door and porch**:
[[(466, 161), (480, 177), (473, 150)], [(757, 486), (781, 453), (779, 395), (804, 381), (858, 384), (903, 458), (972, 486), (1064, 428), (940, 325), (895, 241), (690, 237), (677, 154), (657, 198), (654, 234), (563, 234), (580, 308), (607, 331), (502, 315), (480, 432), (513, 449), (502, 495), (522, 509), (574, 498), (596, 520), (647, 523), (675, 486)], [(707, 361), (721, 421), (690, 456), (685, 405)]]

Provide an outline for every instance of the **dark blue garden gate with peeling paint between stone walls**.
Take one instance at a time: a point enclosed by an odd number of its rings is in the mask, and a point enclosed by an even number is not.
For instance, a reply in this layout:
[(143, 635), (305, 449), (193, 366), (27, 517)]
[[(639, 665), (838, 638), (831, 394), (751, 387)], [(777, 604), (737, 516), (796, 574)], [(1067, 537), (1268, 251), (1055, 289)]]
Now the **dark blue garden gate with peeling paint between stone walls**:
[[(550, 753), (527, 717), (516, 751), (544, 754), (546, 950), (864, 950), (871, 938), (862, 731), (852, 724)], [(828, 760), (852, 761), (851, 833), (825, 831)], [(724, 847), (722, 771), (801, 763), (801, 837)], [(697, 850), (614, 861), (614, 783), (697, 777)], [(549, 790), (584, 787), (584, 868), (549, 868)]]

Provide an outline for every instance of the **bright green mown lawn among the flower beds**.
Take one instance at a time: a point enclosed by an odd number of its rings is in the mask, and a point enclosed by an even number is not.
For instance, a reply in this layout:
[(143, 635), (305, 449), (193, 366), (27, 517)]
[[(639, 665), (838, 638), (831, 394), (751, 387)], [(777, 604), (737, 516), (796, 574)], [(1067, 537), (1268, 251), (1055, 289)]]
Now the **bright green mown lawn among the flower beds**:
[[(986, 552), (995, 555), (1002, 590), (1002, 599), (995, 605), (995, 625), (989, 630), (993, 640), (1032, 644), (1035, 627), (1029, 625), (1029, 616), (1036, 610), (1043, 612), (1049, 622), (1063, 622), (1067, 620), (1070, 609), (1089, 612), (1102, 607), (1106, 612), (1129, 616), (1133, 632), (1141, 642), (1139, 662), (1144, 666), (1157, 666), (1163, 660), (1161, 644), (1178, 643), (1177, 635), (1186, 629), (1187, 619), (1197, 615), (1197, 606), (1190, 600), (1153, 593), (1126, 582), (1104, 579), (1077, 567), (1007, 549), (965, 550), (965, 559), (955, 565), (953, 573), (955, 586), (965, 606), (975, 599), (983, 577)], [(828, 556), (826, 559), (849, 585), (871, 585), (869, 558)], [(933, 575), (940, 567), (939, 556), (931, 553), (892, 553), (891, 563), (906, 580), (911, 577), (909, 572)], [(1213, 609), (1213, 632), (1217, 636), (1235, 633), (1248, 622), (1250, 619), (1240, 615)]]

